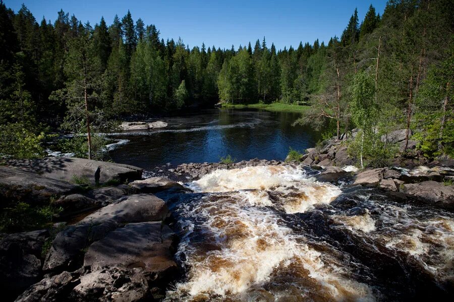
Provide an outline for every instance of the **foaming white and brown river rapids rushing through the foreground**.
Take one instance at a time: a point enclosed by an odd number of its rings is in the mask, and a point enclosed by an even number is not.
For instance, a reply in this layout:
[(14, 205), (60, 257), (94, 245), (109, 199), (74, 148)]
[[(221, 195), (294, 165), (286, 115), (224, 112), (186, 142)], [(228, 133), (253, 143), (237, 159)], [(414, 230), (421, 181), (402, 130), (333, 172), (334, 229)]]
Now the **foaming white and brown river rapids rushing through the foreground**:
[(454, 214), (309, 168), (216, 170), (159, 196), (185, 270), (166, 301), (448, 299)]

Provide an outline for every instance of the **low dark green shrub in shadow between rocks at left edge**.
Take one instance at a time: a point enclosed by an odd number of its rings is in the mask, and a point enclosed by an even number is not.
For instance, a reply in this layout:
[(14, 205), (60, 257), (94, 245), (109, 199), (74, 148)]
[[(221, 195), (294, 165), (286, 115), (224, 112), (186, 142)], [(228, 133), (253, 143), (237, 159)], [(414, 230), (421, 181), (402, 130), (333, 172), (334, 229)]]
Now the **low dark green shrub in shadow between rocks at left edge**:
[(3, 208), (0, 213), (0, 232), (24, 232), (42, 228), (52, 222), (52, 217), (63, 209), (51, 205), (34, 207), (18, 202)]

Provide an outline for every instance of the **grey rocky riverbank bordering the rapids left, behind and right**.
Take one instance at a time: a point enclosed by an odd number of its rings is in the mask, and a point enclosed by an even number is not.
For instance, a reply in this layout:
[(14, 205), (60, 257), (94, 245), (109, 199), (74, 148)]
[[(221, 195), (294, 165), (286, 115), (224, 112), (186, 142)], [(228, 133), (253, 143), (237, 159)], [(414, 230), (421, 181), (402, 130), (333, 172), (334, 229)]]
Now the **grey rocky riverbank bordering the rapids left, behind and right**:
[(336, 141), (308, 149), (301, 162), (189, 163), (156, 167), (157, 176), (146, 179), (138, 167), (83, 159), (10, 162), (0, 167), (4, 210), (17, 203), (61, 210), (53, 215), (58, 222), (40, 230), (2, 235), (0, 284), (6, 299), (17, 301), (162, 298), (182, 272), (169, 210), (154, 194), (189, 192), (182, 182), (219, 169), (290, 165), (320, 182), (375, 187), (403, 203), (454, 210), (449, 162), (364, 171), (353, 163)]

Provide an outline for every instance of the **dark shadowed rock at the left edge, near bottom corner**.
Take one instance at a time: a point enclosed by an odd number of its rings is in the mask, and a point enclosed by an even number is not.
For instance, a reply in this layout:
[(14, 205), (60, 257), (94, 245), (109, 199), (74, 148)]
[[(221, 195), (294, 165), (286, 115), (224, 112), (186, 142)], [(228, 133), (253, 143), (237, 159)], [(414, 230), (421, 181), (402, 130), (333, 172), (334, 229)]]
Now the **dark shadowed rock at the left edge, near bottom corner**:
[(41, 280), (41, 252), (47, 230), (16, 233), (0, 240), (0, 290), (5, 300), (13, 300), (30, 285)]

